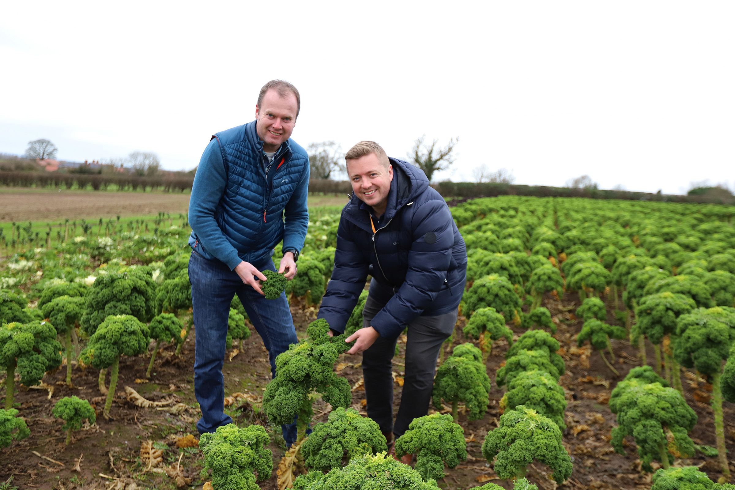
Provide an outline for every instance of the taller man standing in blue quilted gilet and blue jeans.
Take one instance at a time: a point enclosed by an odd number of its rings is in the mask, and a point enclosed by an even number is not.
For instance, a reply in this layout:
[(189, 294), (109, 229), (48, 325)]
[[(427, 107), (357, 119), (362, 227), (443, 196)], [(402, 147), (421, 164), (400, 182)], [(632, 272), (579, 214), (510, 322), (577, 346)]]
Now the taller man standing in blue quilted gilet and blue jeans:
[[(260, 90), (256, 120), (215, 134), (199, 162), (189, 203), (189, 279), (200, 433), (232, 422), (223, 413), (222, 366), (234, 295), (268, 349), (273, 375), (276, 356), (298, 342), (286, 295), (266, 300), (259, 280), (266, 280), (261, 270), (275, 270), (270, 257), (281, 240), (279, 273), (293, 279), (304, 247), (309, 156), (290, 139), (300, 105), (292, 84), (268, 82)], [(295, 436), (295, 424), (284, 426), (289, 444)]]

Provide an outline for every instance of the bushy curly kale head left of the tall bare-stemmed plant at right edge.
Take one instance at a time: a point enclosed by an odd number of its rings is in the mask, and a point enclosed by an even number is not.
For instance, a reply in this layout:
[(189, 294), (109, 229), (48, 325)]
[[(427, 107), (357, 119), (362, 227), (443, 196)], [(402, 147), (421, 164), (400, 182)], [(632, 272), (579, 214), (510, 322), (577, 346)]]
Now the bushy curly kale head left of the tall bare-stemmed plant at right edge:
[[(625, 454), (623, 439), (633, 436), (645, 471), (653, 472), (650, 462), (661, 461), (664, 453), (666, 466), (674, 457), (694, 455), (694, 443), (686, 433), (694, 428), (697, 415), (675, 389), (660, 383), (631, 383), (610, 408), (617, 413), (618, 425), (612, 430), (612, 447)], [(669, 433), (671, 441), (667, 439)]]

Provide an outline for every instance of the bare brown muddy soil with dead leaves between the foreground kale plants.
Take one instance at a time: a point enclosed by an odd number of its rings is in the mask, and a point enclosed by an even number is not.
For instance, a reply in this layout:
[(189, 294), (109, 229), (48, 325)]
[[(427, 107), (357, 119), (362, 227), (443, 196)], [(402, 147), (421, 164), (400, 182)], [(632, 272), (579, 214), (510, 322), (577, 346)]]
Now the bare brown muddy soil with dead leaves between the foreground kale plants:
[[(562, 355), (567, 364), (567, 372), (562, 376), (561, 383), (567, 392), (567, 430), (564, 432), (564, 444), (573, 458), (574, 472), (564, 487), (573, 489), (648, 489), (650, 475), (639, 472), (639, 463), (634, 447), (628, 447), (627, 455), (613, 453), (609, 445), (610, 430), (615, 425), (614, 414), (607, 406), (609, 394), (616, 381), (623, 378), (631, 367), (638, 364), (637, 349), (628, 342), (613, 340), (613, 347), (617, 363), (615, 367), (620, 371), (620, 378), (614, 375), (603, 364), (598, 353), (587, 349), (578, 349), (574, 336), (581, 329), (581, 321), (573, 317), (573, 311), (579, 305), (576, 294), (567, 294), (562, 301), (548, 296), (544, 306), (550, 309), (555, 320), (559, 321), (559, 330), (556, 339), (562, 344)], [(608, 298), (608, 303), (612, 300)], [(314, 309), (304, 309), (293, 305), (294, 323), (299, 336), (303, 336), (306, 325), (315, 319)], [(609, 319), (614, 318), (612, 309), (609, 309)], [(460, 317), (457, 324), (457, 335), (454, 345), (466, 342), (462, 337), (461, 328), (464, 318)], [(251, 328), (254, 332), (254, 329)], [(520, 328), (514, 329), (517, 335), (523, 333)], [(173, 347), (165, 347), (159, 355), (154, 369), (154, 376), (150, 383), (135, 383), (136, 379), (145, 378), (149, 358), (129, 358), (121, 361), (120, 379), (115, 403), (112, 406), (114, 420), (107, 421), (101, 417), (97, 425), (74, 434), (73, 442), (65, 447), (65, 433), (62, 433), (62, 421), (51, 416), (51, 407), (61, 397), (76, 395), (87, 400), (100, 396), (97, 389), (97, 374), (94, 369), (73, 371), (73, 383), (78, 389), (68, 389), (61, 381), (65, 376), (65, 368), (53, 376), (47, 375), (45, 383), (54, 386), (49, 400), (48, 389), (29, 389), (16, 395), (16, 402), (21, 416), (26, 419), (31, 430), (31, 436), (21, 442), (14, 442), (11, 447), (0, 450), (0, 482), (12, 476), (12, 484), (20, 489), (112, 489), (126, 487), (131, 490), (131, 483), (146, 488), (174, 489), (175, 481), (160, 472), (145, 472), (145, 465), (140, 462), (141, 442), (154, 442), (155, 447), (162, 449), (162, 460), (166, 465), (173, 465), (174, 469), (181, 469), (180, 476), (185, 483), (183, 488), (201, 488), (207, 480), (201, 474), (203, 460), (196, 447), (179, 449), (176, 440), (186, 434), (196, 433), (196, 400), (193, 394), (193, 335), (187, 341), (181, 358), (171, 356)], [(403, 375), (404, 344), (399, 343), (401, 355), (394, 359), (395, 372)], [(495, 385), (495, 370), (504, 361), (507, 343), (504, 339), (496, 341), (487, 364), (487, 372), (493, 381), (490, 392), (490, 408), (486, 416), (477, 421), (467, 422), (464, 414), (460, 414), (459, 422), (465, 428), (465, 436), (475, 439), (467, 444), (469, 453), (466, 463), (456, 469), (448, 470), (448, 475), (440, 480), (442, 489), (469, 489), (492, 481), (505, 488), (511, 488), (509, 482), (498, 480), (492, 467), (487, 464), (481, 453), (481, 443), (488, 430), (496, 427), (500, 412), (498, 402), (503, 396), (504, 389)], [(448, 348), (448, 351), (450, 349)], [(231, 351), (232, 352), (232, 351)], [(653, 349), (649, 346), (648, 362), (652, 364)], [(362, 378), (359, 367), (360, 356), (344, 356), (337, 363), (337, 368), (344, 363), (353, 364), (344, 367), (339, 375), (347, 378), (354, 386)], [(225, 361), (223, 372), (226, 379), (225, 394), (236, 392), (251, 394), (251, 398), (262, 394), (262, 389), (270, 380), (268, 355), (265, 352), (261, 339), (254, 332), (250, 339), (245, 341), (242, 351)], [(108, 375), (109, 380), (109, 375)], [(708, 403), (708, 388), (703, 380), (697, 379), (693, 373), (682, 372), (682, 381), (686, 400), (698, 414), (699, 421), (691, 436), (697, 444), (714, 446), (714, 424), (712, 411)], [(61, 386), (57, 385), (60, 383)], [(183, 414), (168, 414), (165, 410), (156, 408), (140, 408), (125, 399), (124, 386), (137, 389), (143, 397), (151, 401), (171, 400), (192, 407)], [(395, 383), (395, 411), (401, 400), (401, 387)], [(353, 392), (353, 406), (364, 411), (362, 400), (365, 392)], [(94, 400), (96, 407), (101, 411), (102, 403)], [(237, 400), (226, 411), (233, 419), (246, 424), (262, 422), (248, 410), (249, 402)], [(318, 401), (315, 404), (316, 421), (326, 419), (326, 406)], [(434, 407), (430, 407), (432, 410)], [(273, 450), (273, 466), (284, 454), (284, 442), (280, 430), (268, 426), (271, 431), (270, 449)], [(725, 434), (728, 449), (734, 454), (735, 417), (733, 406), (725, 403)], [(731, 435), (732, 434), (732, 435)], [(33, 451), (41, 456), (35, 455)], [(81, 472), (73, 471), (76, 461), (83, 455)], [(180, 463), (179, 456), (181, 455)], [(710, 478), (717, 480), (720, 477), (717, 458), (706, 458), (697, 453), (692, 460), (677, 461), (680, 465), (701, 465)], [(654, 463), (655, 465), (655, 463)], [(157, 471), (162, 471), (159, 469)], [(534, 464), (529, 469), (528, 478), (539, 485), (541, 490), (553, 490), (556, 483), (546, 478), (548, 469), (541, 464)], [(101, 476), (106, 475), (106, 476)], [(107, 478), (110, 477), (110, 478)], [(115, 480), (114, 478), (118, 478)], [(276, 489), (275, 470), (269, 480), (259, 483), (262, 489)]]

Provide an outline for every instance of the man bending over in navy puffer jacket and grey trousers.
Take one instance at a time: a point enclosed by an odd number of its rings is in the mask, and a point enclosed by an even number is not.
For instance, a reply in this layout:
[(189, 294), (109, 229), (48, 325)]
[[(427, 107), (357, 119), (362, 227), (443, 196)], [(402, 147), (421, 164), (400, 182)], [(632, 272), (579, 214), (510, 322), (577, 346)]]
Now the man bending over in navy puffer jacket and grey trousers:
[[(363, 328), (348, 337), (362, 352), (368, 417), (390, 443), (429, 411), (442, 342), (451, 335), (465, 290), (467, 251), (444, 198), (422, 170), (388, 158), (372, 141), (345, 155), (354, 191), (340, 217), (334, 271), (319, 309), (343, 332), (370, 281)], [(408, 326), (406, 377), (393, 425), (391, 359)]]

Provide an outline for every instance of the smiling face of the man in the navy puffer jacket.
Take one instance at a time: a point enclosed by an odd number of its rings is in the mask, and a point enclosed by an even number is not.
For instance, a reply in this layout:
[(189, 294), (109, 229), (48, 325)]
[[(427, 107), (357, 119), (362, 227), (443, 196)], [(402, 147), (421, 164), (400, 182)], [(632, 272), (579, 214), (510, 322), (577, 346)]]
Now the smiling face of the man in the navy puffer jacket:
[(347, 173), (350, 176), (352, 190), (377, 215), (385, 212), (388, 203), (390, 182), (393, 180), (392, 165), (384, 165), (374, 153), (347, 161)]

